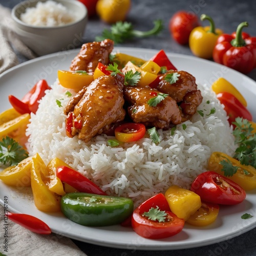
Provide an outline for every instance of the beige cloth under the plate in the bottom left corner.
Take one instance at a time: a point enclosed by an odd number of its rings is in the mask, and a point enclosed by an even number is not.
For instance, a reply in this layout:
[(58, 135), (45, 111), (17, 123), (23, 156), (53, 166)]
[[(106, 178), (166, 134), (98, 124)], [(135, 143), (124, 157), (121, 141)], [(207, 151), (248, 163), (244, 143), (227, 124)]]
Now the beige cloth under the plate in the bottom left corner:
[(33, 233), (10, 220), (6, 220), (6, 223), (4, 216), (4, 207), (0, 205), (0, 255), (86, 255), (69, 238), (55, 233)]

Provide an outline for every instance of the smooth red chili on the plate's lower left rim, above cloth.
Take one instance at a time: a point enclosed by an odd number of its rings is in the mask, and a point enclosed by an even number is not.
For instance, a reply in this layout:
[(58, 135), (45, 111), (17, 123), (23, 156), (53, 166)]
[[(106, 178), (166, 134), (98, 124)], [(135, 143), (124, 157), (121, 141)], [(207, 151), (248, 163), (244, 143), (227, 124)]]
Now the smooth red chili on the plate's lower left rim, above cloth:
[(8, 219), (38, 234), (50, 234), (50, 227), (38, 218), (27, 214), (8, 212)]

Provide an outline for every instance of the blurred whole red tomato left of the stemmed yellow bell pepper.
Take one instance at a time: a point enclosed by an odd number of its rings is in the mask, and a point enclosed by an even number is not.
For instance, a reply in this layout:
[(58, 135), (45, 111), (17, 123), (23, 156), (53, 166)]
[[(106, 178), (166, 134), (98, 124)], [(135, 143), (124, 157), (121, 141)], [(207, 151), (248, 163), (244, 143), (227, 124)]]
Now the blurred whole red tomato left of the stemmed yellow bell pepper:
[(181, 45), (188, 44), (190, 32), (199, 26), (198, 16), (193, 12), (178, 11), (169, 20), (169, 31), (174, 40)]

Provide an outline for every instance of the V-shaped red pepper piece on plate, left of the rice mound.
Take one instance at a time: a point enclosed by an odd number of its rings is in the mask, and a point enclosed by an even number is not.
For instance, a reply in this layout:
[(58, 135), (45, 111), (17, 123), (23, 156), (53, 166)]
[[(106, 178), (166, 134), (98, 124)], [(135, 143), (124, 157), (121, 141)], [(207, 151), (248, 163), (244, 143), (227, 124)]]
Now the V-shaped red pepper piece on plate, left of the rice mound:
[(38, 109), (39, 100), (45, 96), (45, 91), (50, 90), (46, 80), (39, 80), (32, 89), (23, 97), (22, 100), (17, 99), (13, 95), (9, 95), (9, 102), (13, 108), (20, 114), (35, 113)]

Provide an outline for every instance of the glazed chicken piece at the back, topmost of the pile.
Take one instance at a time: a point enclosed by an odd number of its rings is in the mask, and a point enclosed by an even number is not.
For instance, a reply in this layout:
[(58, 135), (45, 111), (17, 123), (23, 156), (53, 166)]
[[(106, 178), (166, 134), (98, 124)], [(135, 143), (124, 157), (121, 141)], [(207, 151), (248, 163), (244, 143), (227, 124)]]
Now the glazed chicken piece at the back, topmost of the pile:
[(70, 71), (84, 70), (90, 73), (97, 68), (98, 62), (108, 65), (113, 48), (114, 41), (110, 39), (83, 44), (80, 52), (71, 62)]

